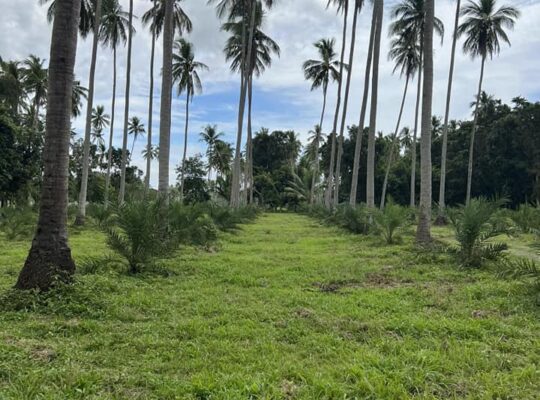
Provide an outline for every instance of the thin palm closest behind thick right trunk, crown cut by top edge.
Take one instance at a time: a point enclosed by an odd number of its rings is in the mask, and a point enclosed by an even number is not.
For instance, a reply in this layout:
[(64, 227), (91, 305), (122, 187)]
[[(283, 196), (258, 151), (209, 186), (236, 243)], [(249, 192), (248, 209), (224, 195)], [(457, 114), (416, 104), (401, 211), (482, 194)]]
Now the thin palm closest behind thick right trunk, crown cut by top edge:
[[(411, 31), (416, 34), (420, 45), (420, 65), (423, 65), (423, 35), (425, 25), (425, 0), (402, 0), (392, 9), (391, 17), (395, 21), (390, 25), (390, 32), (398, 34), (404, 31)], [(433, 27), (435, 33), (441, 37), (441, 42), (444, 37), (444, 24), (437, 17), (434, 18)], [(416, 93), (416, 107), (414, 116), (414, 131), (411, 153), (411, 182), (410, 182), (410, 206), (416, 205), (416, 142), (418, 136), (418, 118), (420, 115), (420, 99), (422, 98), (422, 73), (420, 68), (418, 71), (418, 86)]]

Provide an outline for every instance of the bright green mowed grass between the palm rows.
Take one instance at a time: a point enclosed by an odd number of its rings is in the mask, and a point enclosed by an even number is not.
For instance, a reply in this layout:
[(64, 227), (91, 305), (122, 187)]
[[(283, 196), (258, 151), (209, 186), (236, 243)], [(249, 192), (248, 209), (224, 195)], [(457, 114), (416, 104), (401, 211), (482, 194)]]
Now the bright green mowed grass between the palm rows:
[[(106, 252), (95, 231), (71, 243), (79, 261)], [(0, 243), (0, 291), (27, 248)], [(411, 235), (383, 246), (265, 214), (165, 264), (81, 275), (65, 309), (0, 313), (0, 399), (540, 398), (526, 287)]]

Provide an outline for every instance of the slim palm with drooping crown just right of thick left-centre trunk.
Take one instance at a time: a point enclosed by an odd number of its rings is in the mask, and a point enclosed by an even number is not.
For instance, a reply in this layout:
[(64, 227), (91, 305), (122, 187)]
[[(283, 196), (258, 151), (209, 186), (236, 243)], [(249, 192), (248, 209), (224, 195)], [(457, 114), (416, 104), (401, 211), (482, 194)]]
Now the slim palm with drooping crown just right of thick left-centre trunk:
[(202, 92), (199, 72), (208, 70), (208, 66), (195, 61), (193, 44), (185, 39), (178, 39), (174, 43), (172, 76), (178, 84), (178, 95), (186, 93), (186, 122), (184, 128), (184, 152), (182, 155), (182, 167), (180, 172), (180, 196), (184, 194), (184, 165), (187, 157), (187, 139), (189, 127), (189, 103), (193, 101), (196, 93)]

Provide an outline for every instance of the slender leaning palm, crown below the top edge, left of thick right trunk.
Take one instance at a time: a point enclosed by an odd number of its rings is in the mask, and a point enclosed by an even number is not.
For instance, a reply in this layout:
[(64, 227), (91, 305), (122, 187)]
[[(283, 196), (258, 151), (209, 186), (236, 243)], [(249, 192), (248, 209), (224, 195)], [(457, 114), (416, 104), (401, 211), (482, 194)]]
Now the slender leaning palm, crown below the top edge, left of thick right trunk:
[(396, 129), (390, 148), (390, 155), (388, 156), (388, 163), (386, 165), (386, 173), (384, 175), (384, 182), (381, 194), (381, 210), (384, 208), (386, 201), (386, 189), (388, 187), (388, 176), (392, 167), (394, 158), (394, 152), (399, 143), (398, 132), (401, 124), (401, 117), (403, 116), (403, 107), (405, 106), (405, 99), (407, 98), (407, 89), (409, 88), (409, 81), (414, 77), (414, 74), (420, 68), (420, 46), (414, 32), (405, 31), (401, 32), (396, 38), (392, 40), (390, 45), (390, 52), (388, 54), (391, 60), (394, 60), (395, 67), (394, 73), (399, 69), (400, 75), (405, 75), (405, 88), (403, 89), (403, 98), (401, 100), (401, 107), (399, 108), (399, 115), (396, 123)]

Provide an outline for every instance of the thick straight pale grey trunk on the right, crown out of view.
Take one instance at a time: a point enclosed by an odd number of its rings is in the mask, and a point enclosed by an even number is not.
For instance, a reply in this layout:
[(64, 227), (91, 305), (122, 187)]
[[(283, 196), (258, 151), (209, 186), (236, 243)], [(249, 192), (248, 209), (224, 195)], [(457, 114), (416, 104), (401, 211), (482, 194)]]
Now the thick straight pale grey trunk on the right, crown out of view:
[(433, 23), (435, 0), (425, 0), (424, 31), (424, 89), (422, 93), (422, 136), (420, 145), (420, 213), (416, 240), (420, 244), (431, 241), (431, 120), (433, 103)]

